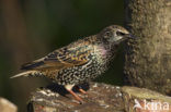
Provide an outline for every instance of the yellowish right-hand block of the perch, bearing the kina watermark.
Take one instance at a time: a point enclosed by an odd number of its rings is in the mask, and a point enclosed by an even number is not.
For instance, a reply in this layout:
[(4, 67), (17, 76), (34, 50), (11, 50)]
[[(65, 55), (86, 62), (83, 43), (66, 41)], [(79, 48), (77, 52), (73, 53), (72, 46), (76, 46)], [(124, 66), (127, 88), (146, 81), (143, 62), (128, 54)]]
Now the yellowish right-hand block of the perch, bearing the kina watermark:
[(122, 87), (126, 112), (171, 112), (171, 97), (137, 87)]

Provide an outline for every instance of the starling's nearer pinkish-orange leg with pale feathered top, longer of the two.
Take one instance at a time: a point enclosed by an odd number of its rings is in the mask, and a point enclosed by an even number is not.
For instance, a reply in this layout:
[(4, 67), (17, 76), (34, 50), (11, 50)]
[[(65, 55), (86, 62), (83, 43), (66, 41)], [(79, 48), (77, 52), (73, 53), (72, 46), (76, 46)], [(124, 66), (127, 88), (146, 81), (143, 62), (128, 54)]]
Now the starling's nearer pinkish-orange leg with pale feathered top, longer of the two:
[(83, 102), (83, 100), (78, 96), (76, 95), (73, 91), (72, 91), (72, 87), (75, 85), (66, 85), (65, 88), (76, 98), (76, 100), (78, 100), (80, 103)]

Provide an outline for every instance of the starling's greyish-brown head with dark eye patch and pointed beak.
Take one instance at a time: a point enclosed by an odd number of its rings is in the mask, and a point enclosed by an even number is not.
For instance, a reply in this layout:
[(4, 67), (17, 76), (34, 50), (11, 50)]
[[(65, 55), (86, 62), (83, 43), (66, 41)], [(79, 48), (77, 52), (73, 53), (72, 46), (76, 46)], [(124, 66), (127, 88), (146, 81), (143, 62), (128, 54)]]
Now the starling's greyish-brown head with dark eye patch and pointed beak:
[(117, 25), (105, 27), (99, 34), (99, 37), (103, 39), (105, 43), (110, 45), (117, 45), (126, 39), (135, 38), (127, 29)]

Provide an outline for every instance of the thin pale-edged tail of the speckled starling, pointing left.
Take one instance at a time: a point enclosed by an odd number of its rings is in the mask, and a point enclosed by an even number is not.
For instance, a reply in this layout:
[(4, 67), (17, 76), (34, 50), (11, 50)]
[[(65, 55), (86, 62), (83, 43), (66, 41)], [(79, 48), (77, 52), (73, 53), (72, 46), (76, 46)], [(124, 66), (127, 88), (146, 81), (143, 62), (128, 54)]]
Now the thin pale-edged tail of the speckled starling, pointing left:
[(10, 78), (16, 78), (16, 77), (21, 77), (21, 76), (37, 76), (37, 75), (39, 75), (39, 73), (37, 71), (26, 71), (26, 72), (16, 74)]

